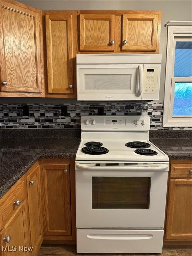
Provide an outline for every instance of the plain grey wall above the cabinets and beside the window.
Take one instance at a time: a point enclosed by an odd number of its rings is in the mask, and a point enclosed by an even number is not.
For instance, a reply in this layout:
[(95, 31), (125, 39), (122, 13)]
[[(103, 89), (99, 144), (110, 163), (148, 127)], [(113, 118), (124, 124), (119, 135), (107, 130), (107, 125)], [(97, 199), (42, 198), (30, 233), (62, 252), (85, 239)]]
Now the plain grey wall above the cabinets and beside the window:
[(169, 20), (191, 20), (192, 19), (192, 2), (191, 1), (49, 1), (49, 0), (25, 0), (19, 1), (33, 6), (40, 10), (161, 10), (161, 39), (160, 53), (162, 53), (161, 68), (161, 85), (160, 85), (160, 102), (164, 98), (164, 81), (165, 81), (165, 61), (166, 61), (166, 43), (167, 28), (164, 24)]

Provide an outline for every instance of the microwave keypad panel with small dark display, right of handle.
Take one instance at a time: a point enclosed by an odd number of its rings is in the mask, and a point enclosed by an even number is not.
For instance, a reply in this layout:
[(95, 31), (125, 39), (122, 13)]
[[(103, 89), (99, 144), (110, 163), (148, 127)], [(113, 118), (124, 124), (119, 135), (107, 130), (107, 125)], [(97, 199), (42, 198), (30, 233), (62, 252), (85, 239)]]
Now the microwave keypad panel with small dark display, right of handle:
[(157, 93), (158, 68), (143, 69), (143, 93)]

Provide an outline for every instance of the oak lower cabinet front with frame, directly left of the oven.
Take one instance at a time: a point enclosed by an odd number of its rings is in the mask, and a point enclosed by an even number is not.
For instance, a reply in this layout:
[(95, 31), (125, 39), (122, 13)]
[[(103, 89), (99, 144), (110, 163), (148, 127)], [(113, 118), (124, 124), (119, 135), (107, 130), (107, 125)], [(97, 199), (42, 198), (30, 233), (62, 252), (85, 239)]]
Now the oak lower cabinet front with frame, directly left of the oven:
[(39, 159), (43, 243), (75, 244), (75, 159)]

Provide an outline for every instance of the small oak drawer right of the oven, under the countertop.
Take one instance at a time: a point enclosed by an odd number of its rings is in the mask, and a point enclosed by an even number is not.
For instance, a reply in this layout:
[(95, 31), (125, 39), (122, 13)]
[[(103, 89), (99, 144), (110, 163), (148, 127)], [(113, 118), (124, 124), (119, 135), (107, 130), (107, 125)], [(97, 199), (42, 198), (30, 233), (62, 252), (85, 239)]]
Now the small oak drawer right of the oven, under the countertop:
[(190, 163), (171, 163), (171, 177), (192, 177), (192, 164)]

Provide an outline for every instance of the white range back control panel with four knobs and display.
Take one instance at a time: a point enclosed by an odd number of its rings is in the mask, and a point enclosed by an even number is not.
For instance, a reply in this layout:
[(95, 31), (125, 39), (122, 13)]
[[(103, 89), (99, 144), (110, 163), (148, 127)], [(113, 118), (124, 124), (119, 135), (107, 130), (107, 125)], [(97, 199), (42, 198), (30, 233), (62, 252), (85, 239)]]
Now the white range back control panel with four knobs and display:
[(148, 131), (149, 116), (82, 116), (82, 131)]

